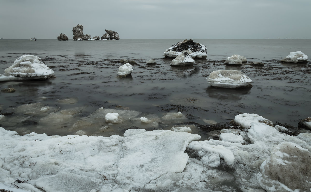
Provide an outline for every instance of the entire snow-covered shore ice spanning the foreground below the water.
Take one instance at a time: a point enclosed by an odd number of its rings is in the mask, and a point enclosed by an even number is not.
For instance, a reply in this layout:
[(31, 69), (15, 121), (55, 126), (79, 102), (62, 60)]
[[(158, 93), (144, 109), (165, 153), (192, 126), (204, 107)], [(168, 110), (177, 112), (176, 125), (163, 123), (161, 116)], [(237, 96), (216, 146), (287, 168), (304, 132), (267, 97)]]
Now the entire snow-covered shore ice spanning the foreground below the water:
[[(223, 129), (221, 140), (209, 141), (164, 130), (61, 137), (19, 136), (0, 127), (0, 188), (17, 185), (20, 189), (12, 190), (16, 192), (311, 190), (311, 133), (286, 135), (257, 114), (240, 114), (234, 121), (241, 130)], [(13, 185), (16, 179), (25, 182)]]

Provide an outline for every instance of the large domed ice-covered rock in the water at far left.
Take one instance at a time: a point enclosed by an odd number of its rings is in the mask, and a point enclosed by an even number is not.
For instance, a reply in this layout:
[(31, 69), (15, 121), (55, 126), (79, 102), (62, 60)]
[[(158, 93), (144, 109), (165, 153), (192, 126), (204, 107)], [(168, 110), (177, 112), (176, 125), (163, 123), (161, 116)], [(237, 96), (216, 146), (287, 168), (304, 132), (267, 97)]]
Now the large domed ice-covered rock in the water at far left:
[(16, 59), (11, 67), (4, 70), (6, 76), (14, 77), (42, 77), (47, 78), (54, 75), (54, 71), (34, 55), (23, 55)]

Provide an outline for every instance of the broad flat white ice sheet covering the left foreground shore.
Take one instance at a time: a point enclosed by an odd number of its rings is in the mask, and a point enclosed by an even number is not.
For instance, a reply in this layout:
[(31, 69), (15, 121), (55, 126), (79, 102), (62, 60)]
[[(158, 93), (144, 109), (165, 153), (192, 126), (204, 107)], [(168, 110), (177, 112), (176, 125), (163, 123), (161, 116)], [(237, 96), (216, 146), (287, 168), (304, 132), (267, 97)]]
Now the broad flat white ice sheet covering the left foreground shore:
[(144, 129), (110, 137), (19, 136), (0, 127), (0, 183), (13, 188), (18, 178), (26, 181), (16, 183), (20, 189), (33, 192), (167, 191), (182, 179), (188, 143), (200, 138)]

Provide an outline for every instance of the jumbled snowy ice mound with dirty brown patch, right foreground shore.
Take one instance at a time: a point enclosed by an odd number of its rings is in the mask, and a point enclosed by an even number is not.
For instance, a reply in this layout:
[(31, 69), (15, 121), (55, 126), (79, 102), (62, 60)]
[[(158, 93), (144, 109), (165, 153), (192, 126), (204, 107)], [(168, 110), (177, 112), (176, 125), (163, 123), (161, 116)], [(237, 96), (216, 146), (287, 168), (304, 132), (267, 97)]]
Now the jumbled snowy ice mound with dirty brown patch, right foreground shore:
[(235, 122), (246, 127), (239, 134), (249, 144), (211, 139), (193, 141), (188, 150), (205, 166), (225, 163), (233, 168), (235, 183), (242, 191), (311, 190), (310, 133), (286, 135), (257, 114), (238, 115)]

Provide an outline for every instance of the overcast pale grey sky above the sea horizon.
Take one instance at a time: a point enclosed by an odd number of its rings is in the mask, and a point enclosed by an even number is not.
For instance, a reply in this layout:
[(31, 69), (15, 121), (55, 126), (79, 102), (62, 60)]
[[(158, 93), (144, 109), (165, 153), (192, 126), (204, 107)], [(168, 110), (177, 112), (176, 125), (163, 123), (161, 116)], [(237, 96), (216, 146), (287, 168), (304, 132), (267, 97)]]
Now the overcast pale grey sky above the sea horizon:
[(0, 38), (311, 39), (311, 0), (0, 0)]

